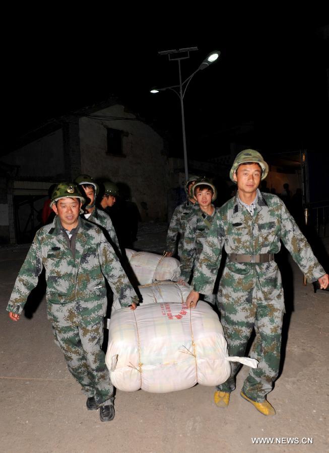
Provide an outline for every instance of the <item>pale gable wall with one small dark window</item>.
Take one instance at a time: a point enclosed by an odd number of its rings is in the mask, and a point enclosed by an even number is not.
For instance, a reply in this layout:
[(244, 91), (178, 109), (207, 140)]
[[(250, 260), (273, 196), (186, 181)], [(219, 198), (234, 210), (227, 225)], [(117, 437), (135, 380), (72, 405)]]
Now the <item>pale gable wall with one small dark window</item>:
[[(164, 220), (168, 170), (162, 138), (121, 105), (100, 110), (95, 116), (102, 119), (80, 119), (81, 172), (127, 184), (142, 220)], [(110, 116), (126, 119), (104, 118)], [(107, 128), (124, 132), (123, 156), (107, 154)]]

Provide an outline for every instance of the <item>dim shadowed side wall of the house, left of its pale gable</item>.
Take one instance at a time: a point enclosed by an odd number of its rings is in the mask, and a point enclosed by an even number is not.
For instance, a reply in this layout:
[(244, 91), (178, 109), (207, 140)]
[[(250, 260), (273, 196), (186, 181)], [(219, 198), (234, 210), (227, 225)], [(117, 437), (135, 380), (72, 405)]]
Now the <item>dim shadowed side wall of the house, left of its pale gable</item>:
[(10, 165), (18, 165), (18, 177), (62, 179), (65, 173), (63, 133), (56, 130), (32, 141), (1, 158)]

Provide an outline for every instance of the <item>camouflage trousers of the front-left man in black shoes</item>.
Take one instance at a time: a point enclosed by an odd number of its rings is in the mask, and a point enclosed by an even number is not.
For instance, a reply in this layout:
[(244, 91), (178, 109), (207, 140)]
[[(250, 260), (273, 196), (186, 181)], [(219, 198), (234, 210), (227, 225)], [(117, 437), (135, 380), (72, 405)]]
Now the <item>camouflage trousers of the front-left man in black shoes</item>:
[(64, 353), (68, 368), (88, 397), (99, 406), (113, 404), (113, 386), (102, 351), (103, 318), (96, 323), (71, 324), (63, 319), (52, 324), (55, 343)]

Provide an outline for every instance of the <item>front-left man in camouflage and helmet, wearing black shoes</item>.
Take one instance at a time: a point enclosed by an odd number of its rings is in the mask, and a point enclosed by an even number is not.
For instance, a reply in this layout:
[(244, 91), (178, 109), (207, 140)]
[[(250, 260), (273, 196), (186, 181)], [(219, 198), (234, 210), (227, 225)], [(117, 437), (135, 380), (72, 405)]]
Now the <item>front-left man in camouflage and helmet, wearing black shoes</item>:
[(79, 217), (84, 198), (74, 183), (58, 184), (51, 197), (57, 214), (35, 235), (7, 307), (20, 319), (26, 299), (46, 271), (47, 315), (70, 372), (100, 419), (114, 418), (113, 386), (102, 351), (107, 298), (104, 276), (121, 307), (136, 308), (136, 293), (101, 230)]

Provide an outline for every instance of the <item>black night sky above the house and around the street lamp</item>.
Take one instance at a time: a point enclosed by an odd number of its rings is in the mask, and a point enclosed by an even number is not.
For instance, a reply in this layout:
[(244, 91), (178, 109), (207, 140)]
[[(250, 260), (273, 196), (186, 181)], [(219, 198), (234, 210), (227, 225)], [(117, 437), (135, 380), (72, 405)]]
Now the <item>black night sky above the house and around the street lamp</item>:
[(298, 19), (280, 14), (262, 23), (223, 16), (208, 30), (190, 24), (183, 38), (181, 25), (171, 23), (161, 30), (139, 24), (138, 32), (127, 24), (114, 31), (97, 23), (97, 30), (83, 32), (68, 23), (63, 29), (60, 24), (24, 24), (16, 29), (19, 39), (7, 39), (3, 46), (2, 152), (13, 137), (40, 122), (116, 95), (171, 133), (171, 153), (179, 155), (179, 100), (170, 92), (148, 91), (178, 83), (177, 63), (157, 52), (190, 46), (199, 51), (182, 61), (183, 78), (210, 51), (222, 52), (220, 60), (195, 74), (186, 91), (191, 155), (204, 156), (206, 150), (226, 154), (234, 134), (220, 131), (250, 121), (253, 134), (239, 140), (258, 149), (327, 147), (329, 51), (316, 30), (328, 23), (329, 16), (322, 12)]

